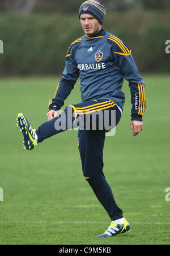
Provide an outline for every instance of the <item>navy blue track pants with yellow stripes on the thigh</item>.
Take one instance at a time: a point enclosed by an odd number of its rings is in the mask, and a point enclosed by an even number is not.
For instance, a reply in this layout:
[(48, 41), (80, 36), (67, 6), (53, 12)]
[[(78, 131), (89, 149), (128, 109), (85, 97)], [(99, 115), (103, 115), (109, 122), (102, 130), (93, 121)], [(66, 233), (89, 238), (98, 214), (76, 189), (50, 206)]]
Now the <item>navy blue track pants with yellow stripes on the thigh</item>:
[(114, 200), (103, 173), (105, 134), (121, 119), (121, 111), (108, 99), (87, 100), (69, 105), (53, 120), (36, 130), (39, 142), (59, 132), (79, 127), (78, 142), (83, 175), (111, 220), (121, 219), (122, 210)]

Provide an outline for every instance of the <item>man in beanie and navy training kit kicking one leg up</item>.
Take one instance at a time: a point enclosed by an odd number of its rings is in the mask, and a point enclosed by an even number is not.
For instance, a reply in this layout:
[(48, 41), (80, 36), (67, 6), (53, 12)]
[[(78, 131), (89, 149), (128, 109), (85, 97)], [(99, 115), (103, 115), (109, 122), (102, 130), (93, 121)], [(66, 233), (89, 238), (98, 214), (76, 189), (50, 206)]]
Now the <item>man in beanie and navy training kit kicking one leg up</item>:
[[(131, 90), (130, 124), (134, 136), (143, 130), (142, 116), (145, 111), (143, 79), (138, 73), (128, 45), (112, 33), (104, 31), (102, 24), (106, 12), (107, 8), (101, 1), (86, 1), (80, 6), (79, 18), (85, 35), (71, 43), (66, 54), (62, 79), (57, 85), (54, 98), (49, 102), (49, 121), (38, 129), (32, 129), (23, 114), (20, 113), (17, 117), (17, 124), (24, 135), (25, 149), (33, 149), (44, 139), (79, 126), (83, 175), (112, 220), (109, 228), (98, 237), (111, 237), (130, 230), (130, 225), (116, 204), (103, 173), (105, 133), (121, 119), (125, 101), (121, 90), (124, 78), (129, 81)], [(79, 76), (82, 103), (70, 104), (58, 115), (58, 110), (63, 106)], [(105, 111), (109, 124), (114, 119), (111, 128), (105, 128), (100, 115), (94, 118), (94, 114), (99, 112), (105, 116)], [(91, 119), (88, 119), (89, 115)], [(96, 128), (92, 129), (94, 120)], [(60, 123), (65, 124), (65, 127), (58, 128)]]

